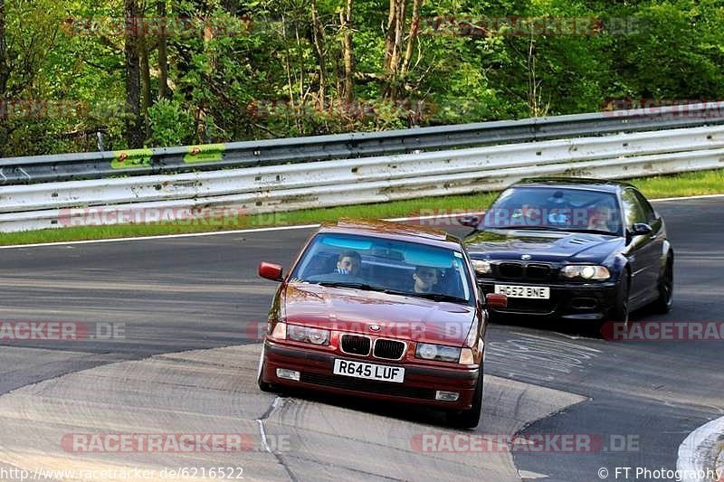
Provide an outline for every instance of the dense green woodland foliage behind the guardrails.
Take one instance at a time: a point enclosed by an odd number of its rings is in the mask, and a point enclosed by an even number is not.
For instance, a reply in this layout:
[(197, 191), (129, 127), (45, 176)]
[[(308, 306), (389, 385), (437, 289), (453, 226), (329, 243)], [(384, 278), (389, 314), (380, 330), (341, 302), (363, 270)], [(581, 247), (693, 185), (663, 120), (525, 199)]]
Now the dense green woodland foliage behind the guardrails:
[[(724, 98), (721, 0), (423, 2), (428, 26), (439, 16), (479, 24), (484, 17), (540, 16), (591, 18), (603, 29), (531, 36), (514, 25), (479, 35), (428, 28), (413, 43), (409, 70), (395, 79), (386, 70), (393, 0), (354, 0), (348, 30), (340, 21), (346, 0), (316, 0), (319, 31), (311, 0), (146, 0), (138, 1), (141, 14), (156, 17), (158, 1), (166, 2), (168, 17), (193, 25), (167, 36), (166, 99), (158, 93), (159, 36), (144, 35), (146, 146), (590, 112), (611, 98)], [(0, 118), (0, 156), (92, 150), (98, 129), (107, 148), (127, 147), (123, 32), (64, 28), (69, 18), (123, 17), (124, 2), (4, 5), (10, 72), (0, 98), (71, 100), (86, 109)], [(406, 5), (403, 50), (412, 0)], [(347, 32), (351, 100), (343, 91)], [(275, 108), (260, 109), (264, 102)]]

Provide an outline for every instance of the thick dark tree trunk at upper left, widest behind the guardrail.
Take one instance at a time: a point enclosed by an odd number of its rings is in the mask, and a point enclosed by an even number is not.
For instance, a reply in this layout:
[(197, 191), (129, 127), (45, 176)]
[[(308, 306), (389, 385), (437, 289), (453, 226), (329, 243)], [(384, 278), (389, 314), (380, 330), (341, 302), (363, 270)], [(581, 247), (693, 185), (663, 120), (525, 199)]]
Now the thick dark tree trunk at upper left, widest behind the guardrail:
[(136, 0), (124, 0), (127, 28), (124, 53), (126, 58), (126, 141), (130, 148), (143, 146), (143, 118), (140, 112), (140, 61), (138, 59), (138, 4)]

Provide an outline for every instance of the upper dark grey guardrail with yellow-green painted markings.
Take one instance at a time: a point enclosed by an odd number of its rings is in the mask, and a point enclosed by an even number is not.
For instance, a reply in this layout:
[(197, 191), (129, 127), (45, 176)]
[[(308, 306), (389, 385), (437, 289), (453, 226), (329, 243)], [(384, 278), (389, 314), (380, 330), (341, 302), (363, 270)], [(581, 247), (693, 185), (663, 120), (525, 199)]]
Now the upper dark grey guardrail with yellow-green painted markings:
[[(188, 173), (724, 124), (724, 102), (202, 146), (0, 159), (0, 186)], [(714, 115), (712, 115), (714, 114)]]

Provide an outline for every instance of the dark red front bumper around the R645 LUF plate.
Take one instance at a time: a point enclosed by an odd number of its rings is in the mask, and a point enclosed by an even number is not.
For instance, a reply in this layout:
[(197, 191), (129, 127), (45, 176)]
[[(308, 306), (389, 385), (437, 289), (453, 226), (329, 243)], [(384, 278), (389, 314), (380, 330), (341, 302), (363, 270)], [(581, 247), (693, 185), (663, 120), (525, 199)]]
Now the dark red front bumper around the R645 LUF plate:
[[(481, 370), (447, 368), (444, 366), (400, 363), (384, 363), (381, 360), (360, 359), (346, 354), (323, 353), (319, 350), (299, 346), (283, 345), (266, 340), (264, 342), (262, 381), (275, 385), (307, 388), (316, 391), (334, 392), (364, 396), (374, 400), (406, 402), (430, 405), (439, 409), (467, 410), (472, 407), (473, 393)], [(405, 368), (405, 382), (376, 382), (332, 373), (335, 359), (402, 366)], [(300, 372), (300, 381), (287, 380), (276, 376), (277, 368)], [(456, 402), (435, 400), (436, 391), (459, 392)]]

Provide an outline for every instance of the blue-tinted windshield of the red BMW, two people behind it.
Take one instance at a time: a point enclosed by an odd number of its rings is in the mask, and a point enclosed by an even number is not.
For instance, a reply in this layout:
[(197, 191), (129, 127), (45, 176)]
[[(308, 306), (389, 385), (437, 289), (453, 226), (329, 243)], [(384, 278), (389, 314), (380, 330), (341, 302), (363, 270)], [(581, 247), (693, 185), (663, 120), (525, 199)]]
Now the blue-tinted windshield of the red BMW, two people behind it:
[(472, 303), (462, 252), (372, 236), (320, 233), (291, 273), (294, 282)]

